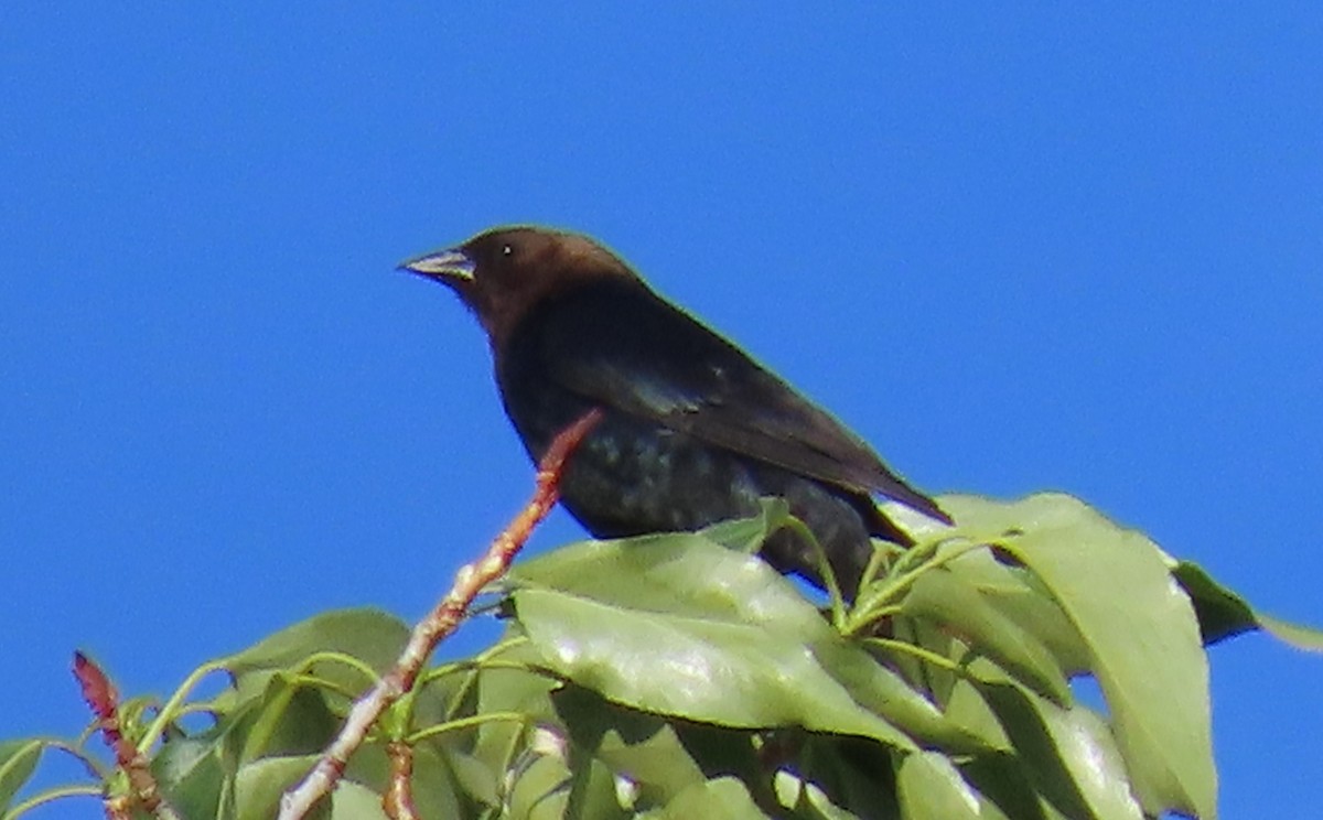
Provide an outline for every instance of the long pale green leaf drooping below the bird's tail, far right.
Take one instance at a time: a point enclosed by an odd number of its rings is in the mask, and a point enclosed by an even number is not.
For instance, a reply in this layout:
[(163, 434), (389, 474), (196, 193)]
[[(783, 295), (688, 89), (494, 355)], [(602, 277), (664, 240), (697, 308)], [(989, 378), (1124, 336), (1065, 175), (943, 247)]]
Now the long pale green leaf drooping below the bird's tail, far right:
[(1089, 645), (1144, 808), (1215, 816), (1208, 663), (1162, 550), (1065, 495), (945, 504), (962, 529), (1020, 533), (998, 544), (1043, 581)]

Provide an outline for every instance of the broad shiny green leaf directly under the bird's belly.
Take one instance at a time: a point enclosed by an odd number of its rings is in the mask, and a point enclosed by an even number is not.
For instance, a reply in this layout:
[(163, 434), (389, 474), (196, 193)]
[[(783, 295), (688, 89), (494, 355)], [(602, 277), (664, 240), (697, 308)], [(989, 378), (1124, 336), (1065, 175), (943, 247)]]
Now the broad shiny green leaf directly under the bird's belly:
[(844, 641), (765, 562), (703, 536), (576, 544), (525, 563), (511, 583), (520, 623), (548, 665), (617, 702), (898, 749), (914, 747), (906, 735), (982, 747)]

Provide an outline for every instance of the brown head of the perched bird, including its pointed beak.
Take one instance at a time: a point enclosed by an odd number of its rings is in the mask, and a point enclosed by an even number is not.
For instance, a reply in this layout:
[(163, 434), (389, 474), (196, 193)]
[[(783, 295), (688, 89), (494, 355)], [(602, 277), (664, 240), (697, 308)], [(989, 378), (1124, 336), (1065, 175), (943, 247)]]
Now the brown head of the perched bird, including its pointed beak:
[(410, 259), (402, 270), (448, 286), (500, 349), (536, 304), (577, 283), (638, 276), (593, 239), (544, 227), (493, 227), (463, 245)]

